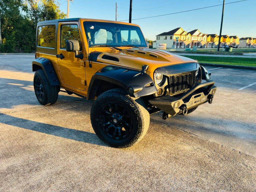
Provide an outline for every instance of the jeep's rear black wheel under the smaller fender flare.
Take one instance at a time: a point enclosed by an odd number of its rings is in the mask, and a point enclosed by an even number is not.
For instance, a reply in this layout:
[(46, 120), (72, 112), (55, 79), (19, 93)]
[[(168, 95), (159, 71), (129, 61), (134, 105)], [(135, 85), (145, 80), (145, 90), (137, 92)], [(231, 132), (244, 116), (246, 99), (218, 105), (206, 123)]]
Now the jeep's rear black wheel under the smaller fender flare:
[(58, 99), (59, 86), (50, 85), (43, 70), (37, 70), (34, 75), (34, 90), (42, 105), (54, 104)]

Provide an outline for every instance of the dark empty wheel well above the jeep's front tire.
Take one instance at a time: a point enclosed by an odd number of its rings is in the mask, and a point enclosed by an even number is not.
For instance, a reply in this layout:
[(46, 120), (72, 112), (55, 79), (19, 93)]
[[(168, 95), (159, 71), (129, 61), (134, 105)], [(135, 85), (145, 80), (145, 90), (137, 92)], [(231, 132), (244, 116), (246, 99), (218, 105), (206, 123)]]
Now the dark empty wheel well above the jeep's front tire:
[(122, 88), (116, 84), (110, 83), (108, 81), (96, 79), (92, 84), (92, 90), (90, 91), (89, 100), (93, 100), (98, 97), (101, 93), (106, 92), (110, 89)]

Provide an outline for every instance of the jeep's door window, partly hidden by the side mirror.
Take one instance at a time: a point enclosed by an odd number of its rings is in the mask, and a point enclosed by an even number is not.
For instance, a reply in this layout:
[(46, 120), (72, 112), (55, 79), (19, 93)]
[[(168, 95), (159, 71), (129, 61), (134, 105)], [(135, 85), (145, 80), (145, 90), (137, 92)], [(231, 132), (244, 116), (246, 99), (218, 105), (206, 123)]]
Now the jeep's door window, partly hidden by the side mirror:
[(82, 50), (79, 29), (77, 25), (62, 25), (60, 36), (60, 48), (66, 49), (66, 40), (77, 40), (79, 42), (80, 51)]

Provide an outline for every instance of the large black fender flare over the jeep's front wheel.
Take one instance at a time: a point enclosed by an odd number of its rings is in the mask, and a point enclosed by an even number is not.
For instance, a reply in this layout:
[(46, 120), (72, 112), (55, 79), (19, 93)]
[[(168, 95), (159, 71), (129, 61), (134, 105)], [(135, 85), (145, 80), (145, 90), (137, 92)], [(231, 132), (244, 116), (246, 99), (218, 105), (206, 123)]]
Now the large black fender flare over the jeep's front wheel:
[[(93, 84), (95, 80), (103, 80), (112, 84), (116, 84), (117, 86), (122, 87), (127, 92), (127, 94), (132, 97), (142, 97), (157, 93), (157, 89), (153, 80), (146, 73), (142, 73), (133, 69), (109, 65), (100, 69), (92, 76), (87, 92), (87, 100), (90, 98), (90, 93), (93, 88), (92, 86), (95, 86)], [(133, 94), (127, 91), (129, 87), (133, 88)]]

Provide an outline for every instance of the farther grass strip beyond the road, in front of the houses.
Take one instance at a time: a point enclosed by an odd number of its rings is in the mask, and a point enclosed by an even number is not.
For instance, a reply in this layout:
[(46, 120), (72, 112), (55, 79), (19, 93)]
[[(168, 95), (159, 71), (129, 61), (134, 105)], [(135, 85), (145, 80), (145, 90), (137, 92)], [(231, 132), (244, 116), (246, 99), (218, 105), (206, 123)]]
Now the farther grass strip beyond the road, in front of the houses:
[(243, 53), (256, 53), (256, 48), (233, 48), (232, 52), (223, 52), (223, 48), (220, 48), (218, 52), (217, 49), (197, 49), (196, 52), (193, 51), (172, 51), (173, 53), (194, 53), (194, 54), (212, 54), (212, 55), (243, 55)]

